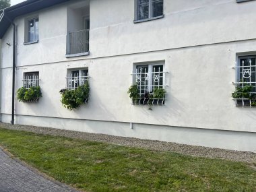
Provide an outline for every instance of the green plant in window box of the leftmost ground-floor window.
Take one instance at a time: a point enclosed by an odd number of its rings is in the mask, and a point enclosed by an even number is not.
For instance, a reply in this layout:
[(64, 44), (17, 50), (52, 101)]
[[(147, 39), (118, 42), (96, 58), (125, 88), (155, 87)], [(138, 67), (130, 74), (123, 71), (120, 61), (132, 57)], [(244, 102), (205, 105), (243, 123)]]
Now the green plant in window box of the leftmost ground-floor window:
[(20, 102), (30, 102), (42, 97), (40, 86), (33, 86), (29, 89), (24, 87), (18, 89), (17, 98)]

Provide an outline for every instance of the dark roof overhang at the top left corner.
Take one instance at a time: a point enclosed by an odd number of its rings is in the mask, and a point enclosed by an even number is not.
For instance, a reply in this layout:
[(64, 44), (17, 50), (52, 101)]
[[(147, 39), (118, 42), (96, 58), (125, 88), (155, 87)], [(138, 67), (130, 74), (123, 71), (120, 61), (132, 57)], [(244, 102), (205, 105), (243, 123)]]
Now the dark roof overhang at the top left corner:
[[(5, 32), (11, 25), (9, 20), (13, 21), (20, 15), (25, 15), (27, 13), (38, 11), (46, 7), (64, 3), (66, 1), (71, 0), (27, 0), (17, 5), (0, 10), (0, 39), (3, 38)], [(9, 18), (9, 20), (7, 18)]]

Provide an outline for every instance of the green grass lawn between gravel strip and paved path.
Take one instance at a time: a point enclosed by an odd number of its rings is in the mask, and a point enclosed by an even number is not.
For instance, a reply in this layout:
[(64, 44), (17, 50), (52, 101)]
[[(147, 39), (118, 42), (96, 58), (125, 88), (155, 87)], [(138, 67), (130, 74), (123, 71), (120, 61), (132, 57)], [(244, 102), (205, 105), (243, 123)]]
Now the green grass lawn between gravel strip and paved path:
[(0, 129), (0, 145), (85, 191), (256, 191), (256, 170), (243, 162), (7, 129)]

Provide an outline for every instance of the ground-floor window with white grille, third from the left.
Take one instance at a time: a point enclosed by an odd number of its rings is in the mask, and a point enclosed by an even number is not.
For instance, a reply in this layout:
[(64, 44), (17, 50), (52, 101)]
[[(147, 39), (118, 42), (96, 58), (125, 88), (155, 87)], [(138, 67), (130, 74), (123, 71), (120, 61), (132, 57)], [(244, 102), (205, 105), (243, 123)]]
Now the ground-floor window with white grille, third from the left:
[(159, 91), (165, 92), (165, 73), (164, 65), (160, 63), (135, 66), (133, 84), (138, 88), (137, 104), (149, 104), (150, 99), (152, 104), (164, 104), (164, 94), (159, 94)]

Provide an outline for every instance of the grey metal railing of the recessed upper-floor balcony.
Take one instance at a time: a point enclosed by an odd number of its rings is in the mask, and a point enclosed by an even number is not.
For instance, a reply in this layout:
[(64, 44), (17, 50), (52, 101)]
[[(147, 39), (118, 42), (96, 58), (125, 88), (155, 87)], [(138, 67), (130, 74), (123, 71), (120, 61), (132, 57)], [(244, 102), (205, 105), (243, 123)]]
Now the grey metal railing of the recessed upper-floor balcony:
[(69, 49), (67, 55), (89, 52), (89, 30), (69, 32)]

